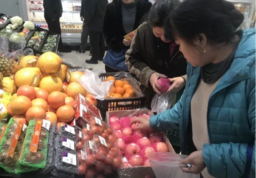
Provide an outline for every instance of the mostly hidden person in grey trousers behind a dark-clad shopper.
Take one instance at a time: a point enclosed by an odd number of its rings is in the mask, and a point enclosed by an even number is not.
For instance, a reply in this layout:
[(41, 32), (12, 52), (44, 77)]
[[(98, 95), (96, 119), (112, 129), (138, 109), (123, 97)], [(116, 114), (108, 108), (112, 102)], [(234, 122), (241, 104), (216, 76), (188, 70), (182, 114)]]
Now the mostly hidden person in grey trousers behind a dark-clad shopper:
[[(82, 30), (82, 34), (81, 34), (81, 43), (80, 43), (80, 46), (79, 46), (79, 50), (76, 51), (76, 52), (79, 52), (79, 53), (85, 53), (85, 50), (86, 50), (86, 47), (87, 47), (87, 39), (88, 39), (88, 36), (89, 36), (88, 25), (84, 21), (86, 6), (87, 6), (86, 2), (87, 2), (87, 0), (82, 0), (81, 1), (80, 18), (81, 18), (81, 21), (83, 21), (83, 30)], [(90, 56), (92, 56), (91, 47), (90, 47)]]

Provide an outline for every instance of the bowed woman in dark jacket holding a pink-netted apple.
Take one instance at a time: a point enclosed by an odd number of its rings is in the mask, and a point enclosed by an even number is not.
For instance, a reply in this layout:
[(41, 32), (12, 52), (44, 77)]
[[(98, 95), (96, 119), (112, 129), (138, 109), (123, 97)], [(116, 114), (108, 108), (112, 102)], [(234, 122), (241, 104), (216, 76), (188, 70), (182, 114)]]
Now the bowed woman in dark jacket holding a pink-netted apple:
[(148, 108), (153, 96), (161, 94), (159, 77), (170, 78), (173, 84), (169, 90), (173, 92), (179, 92), (186, 84), (187, 61), (174, 39), (167, 39), (164, 32), (164, 22), (178, 4), (179, 0), (156, 1), (149, 12), (149, 22), (139, 26), (126, 52), (125, 64), (142, 84)]

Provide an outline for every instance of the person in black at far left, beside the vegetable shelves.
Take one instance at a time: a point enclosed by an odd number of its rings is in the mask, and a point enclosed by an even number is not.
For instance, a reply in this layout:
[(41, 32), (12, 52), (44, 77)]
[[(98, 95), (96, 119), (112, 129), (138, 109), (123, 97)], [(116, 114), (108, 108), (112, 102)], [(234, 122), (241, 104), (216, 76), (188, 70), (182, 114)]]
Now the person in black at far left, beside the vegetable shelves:
[(59, 18), (62, 16), (61, 0), (44, 0), (44, 18), (50, 32), (60, 35), (59, 52), (70, 53), (71, 50), (63, 46)]

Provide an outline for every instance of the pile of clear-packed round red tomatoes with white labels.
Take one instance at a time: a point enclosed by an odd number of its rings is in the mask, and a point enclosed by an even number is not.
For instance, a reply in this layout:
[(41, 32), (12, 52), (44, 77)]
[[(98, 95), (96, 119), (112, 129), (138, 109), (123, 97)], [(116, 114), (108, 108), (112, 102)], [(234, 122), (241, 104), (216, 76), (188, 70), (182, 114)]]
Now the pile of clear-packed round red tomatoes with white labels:
[(78, 154), (79, 174), (86, 177), (104, 177), (122, 164), (121, 153), (113, 129), (97, 117), (82, 129), (83, 151)]

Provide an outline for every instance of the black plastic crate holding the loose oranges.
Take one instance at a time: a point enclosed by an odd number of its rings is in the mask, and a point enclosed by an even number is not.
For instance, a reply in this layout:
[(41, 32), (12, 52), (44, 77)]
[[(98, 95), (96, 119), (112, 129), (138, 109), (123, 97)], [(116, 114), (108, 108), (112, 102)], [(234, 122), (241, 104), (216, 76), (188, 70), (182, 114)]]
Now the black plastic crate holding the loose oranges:
[[(102, 73), (99, 75), (101, 80), (105, 80), (108, 76), (114, 76), (117, 73)], [(131, 73), (129, 73), (131, 74)], [(143, 107), (145, 97), (137, 96), (132, 98), (120, 98), (120, 99), (97, 99), (97, 107), (105, 120), (107, 111), (121, 111), (121, 110), (134, 110)]]

